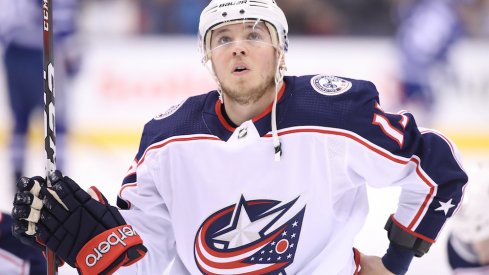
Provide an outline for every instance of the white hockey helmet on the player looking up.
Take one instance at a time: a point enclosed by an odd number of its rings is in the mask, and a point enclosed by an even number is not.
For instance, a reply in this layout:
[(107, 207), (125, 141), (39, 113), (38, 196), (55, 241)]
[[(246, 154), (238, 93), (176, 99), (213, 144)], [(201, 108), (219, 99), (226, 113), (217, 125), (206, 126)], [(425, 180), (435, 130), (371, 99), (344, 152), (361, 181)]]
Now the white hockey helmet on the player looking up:
[(267, 25), (272, 43), (287, 52), (287, 19), (275, 0), (212, 0), (202, 11), (199, 22), (199, 49), (203, 63), (208, 60), (211, 30), (237, 20), (262, 20)]

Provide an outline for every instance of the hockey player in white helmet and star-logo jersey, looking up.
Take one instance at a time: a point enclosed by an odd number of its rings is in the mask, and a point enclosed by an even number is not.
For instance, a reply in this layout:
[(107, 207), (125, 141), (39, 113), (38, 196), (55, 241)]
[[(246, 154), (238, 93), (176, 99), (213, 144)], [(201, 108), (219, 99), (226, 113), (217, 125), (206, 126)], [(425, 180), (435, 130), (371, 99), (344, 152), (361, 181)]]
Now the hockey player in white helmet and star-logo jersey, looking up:
[[(287, 30), (273, 0), (211, 1), (199, 41), (218, 88), (146, 124), (121, 209), (59, 171), (22, 178), (14, 232), (82, 274), (406, 273), (460, 204), (457, 149), (368, 81), (284, 76)], [(352, 247), (367, 185), (402, 187), (382, 258)]]

